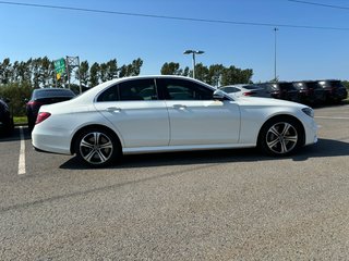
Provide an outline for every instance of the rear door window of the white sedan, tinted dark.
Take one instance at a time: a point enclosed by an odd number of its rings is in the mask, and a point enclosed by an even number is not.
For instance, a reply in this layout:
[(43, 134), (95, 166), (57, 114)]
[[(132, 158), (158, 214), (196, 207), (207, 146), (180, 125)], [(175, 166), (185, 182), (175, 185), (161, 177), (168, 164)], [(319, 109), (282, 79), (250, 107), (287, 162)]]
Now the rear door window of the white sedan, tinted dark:
[(135, 79), (119, 84), (121, 101), (130, 100), (157, 100), (154, 79)]

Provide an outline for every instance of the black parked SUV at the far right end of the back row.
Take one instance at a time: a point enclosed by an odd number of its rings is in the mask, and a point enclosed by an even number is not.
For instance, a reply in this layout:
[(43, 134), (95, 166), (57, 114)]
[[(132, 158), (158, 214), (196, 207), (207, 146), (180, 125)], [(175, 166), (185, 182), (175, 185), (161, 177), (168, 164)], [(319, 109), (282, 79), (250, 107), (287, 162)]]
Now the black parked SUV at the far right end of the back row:
[(340, 80), (326, 79), (318, 80), (318, 85), (325, 90), (325, 98), (327, 102), (340, 102), (347, 99), (348, 91)]

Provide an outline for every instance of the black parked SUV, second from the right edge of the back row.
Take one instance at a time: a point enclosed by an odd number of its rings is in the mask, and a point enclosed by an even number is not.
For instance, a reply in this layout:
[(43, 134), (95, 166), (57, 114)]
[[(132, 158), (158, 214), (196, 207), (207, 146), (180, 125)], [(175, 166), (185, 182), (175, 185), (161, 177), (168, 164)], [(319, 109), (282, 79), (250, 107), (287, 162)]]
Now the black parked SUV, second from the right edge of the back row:
[(304, 104), (323, 103), (326, 99), (325, 90), (316, 80), (294, 82), (299, 91), (300, 102)]

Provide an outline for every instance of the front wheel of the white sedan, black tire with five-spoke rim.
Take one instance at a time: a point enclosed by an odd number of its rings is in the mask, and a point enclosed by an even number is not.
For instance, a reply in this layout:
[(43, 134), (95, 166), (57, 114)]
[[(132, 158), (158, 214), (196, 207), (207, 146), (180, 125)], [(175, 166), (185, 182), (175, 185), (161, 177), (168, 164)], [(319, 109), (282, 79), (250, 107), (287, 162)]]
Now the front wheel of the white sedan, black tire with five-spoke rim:
[(291, 117), (275, 117), (260, 133), (258, 146), (269, 156), (288, 156), (301, 147), (304, 134), (300, 123)]

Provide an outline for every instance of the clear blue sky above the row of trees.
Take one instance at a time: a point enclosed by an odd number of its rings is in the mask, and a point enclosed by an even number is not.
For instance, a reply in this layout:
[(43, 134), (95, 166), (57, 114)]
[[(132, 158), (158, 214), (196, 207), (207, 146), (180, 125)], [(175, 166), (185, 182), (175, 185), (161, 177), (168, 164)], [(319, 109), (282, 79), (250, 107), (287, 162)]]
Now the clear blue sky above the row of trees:
[[(113, 13), (33, 8), (9, 2)], [(141, 74), (156, 75), (166, 62), (192, 67), (192, 58), (183, 54), (192, 49), (205, 52), (196, 55), (196, 63), (252, 69), (253, 82), (266, 82), (274, 78), (274, 28), (277, 27), (276, 72), (279, 80), (349, 79), (349, 1), (308, 2), (341, 9), (289, 0), (0, 1), (0, 60), (27, 61), (45, 55), (56, 60), (70, 55), (87, 60), (89, 64), (117, 59), (121, 66), (141, 58), (144, 62)]]

